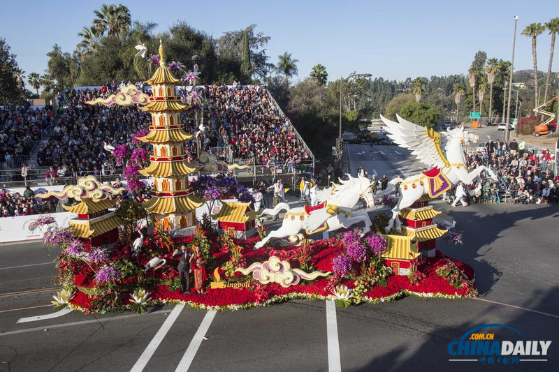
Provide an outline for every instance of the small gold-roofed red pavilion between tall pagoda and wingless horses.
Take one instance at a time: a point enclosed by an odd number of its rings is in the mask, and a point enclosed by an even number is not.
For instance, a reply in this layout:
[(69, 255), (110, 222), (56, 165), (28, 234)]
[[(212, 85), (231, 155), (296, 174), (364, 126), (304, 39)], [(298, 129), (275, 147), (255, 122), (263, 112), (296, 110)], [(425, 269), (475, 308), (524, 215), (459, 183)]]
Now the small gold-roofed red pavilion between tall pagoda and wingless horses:
[(256, 216), (259, 213), (250, 209), (249, 202), (222, 201), (222, 204), (222, 209), (212, 214), (212, 218), (218, 221), (220, 234), (247, 239), (256, 233)]

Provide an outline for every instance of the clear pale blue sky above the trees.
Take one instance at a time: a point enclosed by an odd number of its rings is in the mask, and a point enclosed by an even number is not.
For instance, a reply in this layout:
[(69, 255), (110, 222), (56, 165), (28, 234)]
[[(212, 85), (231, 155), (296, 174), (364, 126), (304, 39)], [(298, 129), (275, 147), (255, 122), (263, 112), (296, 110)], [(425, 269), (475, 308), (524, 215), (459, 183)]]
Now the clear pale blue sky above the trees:
[[(43, 73), (46, 53), (58, 43), (70, 52), (93, 10), (110, 1), (9, 1), (2, 4), (0, 36), (20, 67)], [(515, 70), (532, 68), (530, 39), (520, 32), (532, 22), (559, 17), (549, 1), (122, 1), (133, 20), (156, 22), (166, 31), (184, 20), (214, 38), (256, 23), (271, 37), (273, 63), (288, 51), (299, 60), (298, 78), (323, 64), (329, 79), (371, 73), (388, 79), (465, 73), (475, 52), (511, 58), (518, 15)], [(281, 4), (281, 5), (280, 5)], [(547, 70), (551, 36), (539, 36), (538, 68)], [(558, 41), (559, 44), (559, 41)], [(559, 50), (559, 45), (556, 45)], [(153, 51), (155, 52), (155, 51)], [(559, 70), (559, 53), (553, 70)]]

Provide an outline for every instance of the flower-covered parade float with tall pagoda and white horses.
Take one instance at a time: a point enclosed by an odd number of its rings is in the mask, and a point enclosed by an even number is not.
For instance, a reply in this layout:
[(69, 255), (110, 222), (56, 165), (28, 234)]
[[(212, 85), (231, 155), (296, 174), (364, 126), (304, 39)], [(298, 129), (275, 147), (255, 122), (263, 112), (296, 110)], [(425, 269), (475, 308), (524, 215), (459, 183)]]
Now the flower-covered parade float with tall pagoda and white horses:
[[(205, 198), (195, 195), (187, 176), (201, 165), (188, 163), (184, 156), (182, 142), (191, 135), (184, 132), (178, 112), (185, 106), (176, 96), (177, 80), (166, 67), (162, 46), (159, 54), (159, 68), (148, 81), (154, 87), (153, 96), (123, 89), (117, 97), (102, 100), (103, 104), (138, 104), (152, 114), (150, 133), (140, 140), (152, 144), (153, 154), (151, 164), (141, 173), (153, 177), (155, 191), (143, 204), (120, 202), (116, 211), (110, 211), (115, 206), (111, 195), (119, 190), (101, 186), (94, 179), (80, 179), (78, 185), (65, 189), (66, 195), (55, 195), (64, 198), (71, 194), (79, 202), (65, 206), (78, 214), (70, 228), (45, 232), (45, 245), (60, 249), (58, 280), (64, 289), (55, 296), (56, 308), (143, 313), (147, 306), (168, 303), (236, 310), (289, 299), (331, 299), (339, 306), (349, 306), (406, 295), (477, 295), (472, 268), (435, 251), (435, 239), (447, 230), (433, 222), (437, 211), (427, 204), (432, 197), (428, 191), (417, 193), (409, 204), (402, 203), (411, 198), (409, 193), (402, 193), (393, 209), (396, 216), (378, 213), (371, 219), (366, 211), (354, 209), (360, 198), (368, 207), (375, 203), (368, 179), (349, 177), (321, 191), (317, 207), (290, 209), (280, 203), (266, 209), (264, 215), (287, 209), (282, 227), (269, 233), (257, 223), (260, 218), (246, 200), (224, 202), (217, 214), (196, 221), (194, 211)], [(422, 141), (435, 143), (435, 151), (444, 158), (440, 137), (433, 141), (435, 133), (427, 132)], [(460, 131), (460, 135), (466, 133)], [(416, 143), (425, 145), (420, 142)], [(439, 174), (446, 174), (446, 169)], [(206, 186), (207, 179), (202, 181), (204, 186), (196, 186), (198, 192), (211, 198), (214, 186)], [(417, 188), (410, 182), (406, 180), (402, 190)], [(240, 193), (241, 188), (231, 193)], [(400, 218), (405, 223), (403, 231)], [(394, 219), (397, 228), (391, 228)], [(111, 223), (101, 228), (100, 222), (106, 220)], [(122, 222), (120, 238), (113, 241), (117, 222)], [(302, 244), (291, 245), (291, 237), (301, 230), (306, 234)], [(317, 239), (323, 232), (332, 236)], [(196, 252), (189, 264), (194, 276), (206, 279), (198, 292), (180, 290), (176, 250), (183, 245)]]

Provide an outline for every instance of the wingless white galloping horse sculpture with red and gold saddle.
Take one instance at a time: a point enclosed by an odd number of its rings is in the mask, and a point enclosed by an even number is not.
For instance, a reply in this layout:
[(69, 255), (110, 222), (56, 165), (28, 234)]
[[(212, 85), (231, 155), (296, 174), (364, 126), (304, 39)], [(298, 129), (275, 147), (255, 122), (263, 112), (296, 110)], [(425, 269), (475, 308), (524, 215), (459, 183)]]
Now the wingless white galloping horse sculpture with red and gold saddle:
[[(363, 198), (367, 207), (373, 207), (374, 197), (370, 188), (370, 181), (365, 177), (354, 178), (348, 174), (349, 180), (340, 179), (341, 185), (335, 185), (317, 193), (317, 199), (322, 203), (318, 209), (314, 207), (297, 207), (291, 209), (286, 203), (279, 203), (273, 209), (264, 209), (262, 214), (275, 216), (282, 209), (286, 209), (282, 227), (270, 232), (267, 237), (256, 243), (254, 249), (263, 247), (271, 238), (282, 238), (297, 235), (305, 229), (307, 234), (321, 231), (334, 231), (349, 228), (351, 225), (363, 221), (365, 229), (363, 235), (370, 231), (371, 221), (366, 211), (351, 211), (359, 198)], [(311, 210), (312, 209), (312, 210)]]

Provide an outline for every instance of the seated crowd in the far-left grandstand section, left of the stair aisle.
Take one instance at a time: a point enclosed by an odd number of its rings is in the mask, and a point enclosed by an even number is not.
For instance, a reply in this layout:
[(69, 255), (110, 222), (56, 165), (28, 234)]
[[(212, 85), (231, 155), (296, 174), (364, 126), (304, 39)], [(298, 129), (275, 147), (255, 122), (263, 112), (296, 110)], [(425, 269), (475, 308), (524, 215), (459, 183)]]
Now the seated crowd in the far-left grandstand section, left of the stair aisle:
[(54, 114), (51, 110), (27, 106), (0, 107), (0, 169), (20, 168), (47, 133)]

